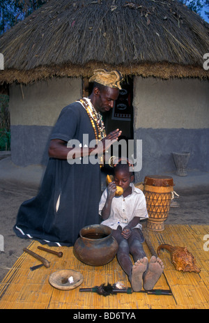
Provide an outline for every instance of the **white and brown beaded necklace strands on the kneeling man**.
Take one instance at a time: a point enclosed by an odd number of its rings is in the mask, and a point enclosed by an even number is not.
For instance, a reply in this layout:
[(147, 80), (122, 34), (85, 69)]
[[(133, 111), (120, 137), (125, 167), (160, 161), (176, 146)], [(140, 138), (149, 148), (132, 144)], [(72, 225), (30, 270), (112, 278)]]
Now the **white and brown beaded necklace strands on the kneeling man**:
[(91, 121), (91, 125), (93, 126), (93, 130), (95, 133), (95, 140), (102, 140), (106, 136), (106, 133), (104, 129), (104, 122), (102, 121), (102, 116), (100, 112), (97, 112), (95, 110), (95, 107), (93, 107), (93, 104), (91, 103), (91, 100), (89, 98), (81, 98), (77, 102), (82, 103), (82, 106), (88, 114), (88, 117)]

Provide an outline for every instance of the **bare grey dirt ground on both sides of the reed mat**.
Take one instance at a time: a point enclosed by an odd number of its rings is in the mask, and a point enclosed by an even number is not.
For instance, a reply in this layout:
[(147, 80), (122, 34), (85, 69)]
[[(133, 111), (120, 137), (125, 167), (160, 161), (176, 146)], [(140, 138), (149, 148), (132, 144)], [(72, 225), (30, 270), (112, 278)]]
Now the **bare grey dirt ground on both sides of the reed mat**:
[[(13, 232), (13, 226), (20, 204), (35, 196), (37, 191), (37, 188), (29, 185), (1, 180), (0, 234), (4, 238), (4, 251), (0, 252), (0, 282), (17, 258), (22, 255), (22, 249), (27, 248), (31, 243), (31, 240), (18, 238)], [(171, 207), (165, 224), (209, 225), (208, 191), (181, 192), (174, 202), (179, 207)]]

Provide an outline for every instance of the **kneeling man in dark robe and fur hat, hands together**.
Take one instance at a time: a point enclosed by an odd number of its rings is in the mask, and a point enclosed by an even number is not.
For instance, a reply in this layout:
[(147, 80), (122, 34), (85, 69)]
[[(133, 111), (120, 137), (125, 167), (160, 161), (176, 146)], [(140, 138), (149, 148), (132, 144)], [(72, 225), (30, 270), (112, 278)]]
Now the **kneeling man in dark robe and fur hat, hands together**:
[[(49, 246), (73, 246), (82, 227), (99, 223), (100, 165), (89, 157), (102, 156), (110, 146), (107, 142), (112, 144), (121, 135), (119, 129), (105, 135), (100, 116), (114, 107), (121, 79), (118, 71), (96, 70), (89, 98), (61, 111), (50, 138), (40, 191), (23, 202), (17, 213), (17, 236)], [(98, 147), (91, 145), (95, 139), (100, 140)], [(75, 142), (79, 146), (74, 147)]]

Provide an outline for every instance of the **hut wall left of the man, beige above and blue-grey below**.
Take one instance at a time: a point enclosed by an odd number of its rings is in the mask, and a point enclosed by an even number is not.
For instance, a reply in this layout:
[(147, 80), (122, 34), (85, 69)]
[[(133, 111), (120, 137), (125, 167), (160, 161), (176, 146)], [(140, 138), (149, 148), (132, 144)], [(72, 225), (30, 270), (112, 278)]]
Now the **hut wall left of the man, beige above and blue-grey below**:
[(10, 85), (11, 157), (20, 166), (45, 165), (49, 136), (59, 113), (82, 96), (81, 78)]

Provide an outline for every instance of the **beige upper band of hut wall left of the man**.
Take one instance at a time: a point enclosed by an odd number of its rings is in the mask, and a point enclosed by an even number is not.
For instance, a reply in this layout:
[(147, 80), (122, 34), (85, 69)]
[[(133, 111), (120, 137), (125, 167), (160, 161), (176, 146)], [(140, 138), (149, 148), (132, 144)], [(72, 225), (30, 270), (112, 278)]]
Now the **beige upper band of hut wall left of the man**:
[(52, 78), (10, 86), (11, 125), (54, 126), (63, 107), (82, 97), (81, 78)]

